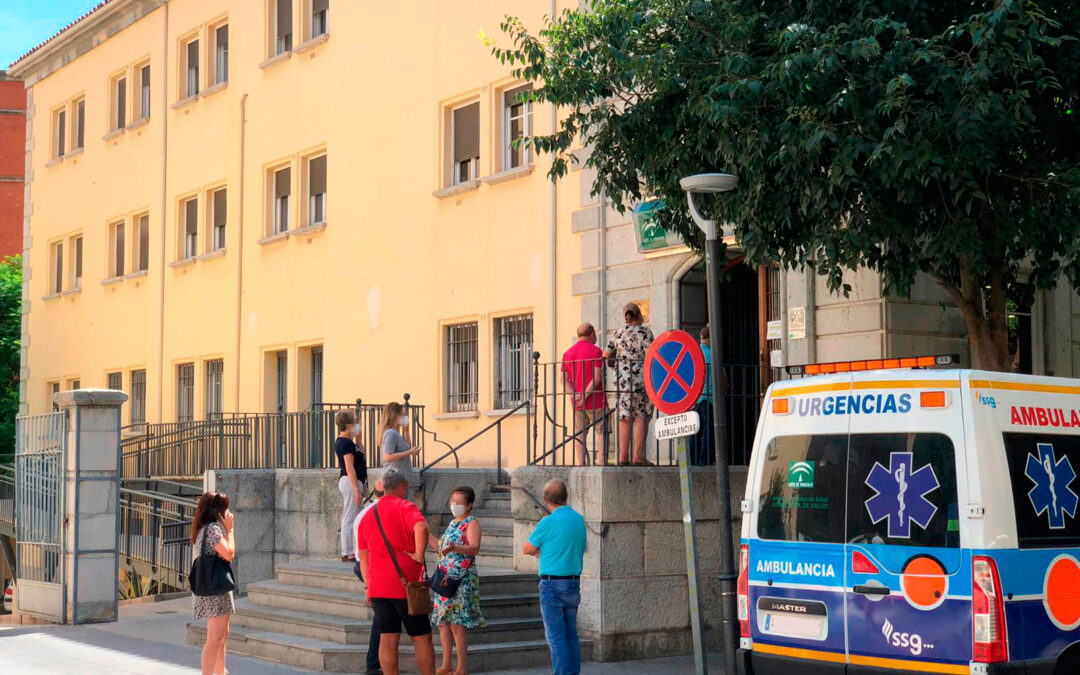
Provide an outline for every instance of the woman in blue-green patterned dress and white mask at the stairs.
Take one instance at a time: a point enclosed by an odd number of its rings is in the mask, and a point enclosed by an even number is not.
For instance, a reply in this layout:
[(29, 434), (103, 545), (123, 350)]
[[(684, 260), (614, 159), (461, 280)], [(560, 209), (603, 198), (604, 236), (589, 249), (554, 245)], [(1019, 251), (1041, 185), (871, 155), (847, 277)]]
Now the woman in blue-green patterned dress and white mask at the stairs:
[[(435, 675), (468, 675), (469, 673), (469, 629), (487, 625), (480, 612), (480, 575), (476, 572), (476, 554), (480, 553), (480, 521), (472, 515), (476, 492), (471, 487), (455, 488), (450, 495), (450, 513), (454, 521), (447, 526), (443, 537), (430, 538), (431, 546), (438, 551), (438, 568), (451, 579), (461, 579), (454, 597), (443, 597), (434, 593), (435, 609), (431, 615), (431, 625), (438, 627), (438, 639), (443, 645), (443, 666)], [(458, 667), (450, 667), (454, 648), (458, 650)]]

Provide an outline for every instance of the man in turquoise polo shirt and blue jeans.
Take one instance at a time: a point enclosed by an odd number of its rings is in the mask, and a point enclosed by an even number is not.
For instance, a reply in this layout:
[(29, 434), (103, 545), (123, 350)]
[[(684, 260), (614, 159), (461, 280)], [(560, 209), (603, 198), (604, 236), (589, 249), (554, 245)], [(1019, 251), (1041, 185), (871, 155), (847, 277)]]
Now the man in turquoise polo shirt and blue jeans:
[(549, 481), (543, 500), (551, 510), (525, 543), (525, 555), (540, 558), (540, 611), (555, 675), (581, 673), (578, 606), (581, 561), (585, 555), (585, 519), (566, 505), (566, 483)]

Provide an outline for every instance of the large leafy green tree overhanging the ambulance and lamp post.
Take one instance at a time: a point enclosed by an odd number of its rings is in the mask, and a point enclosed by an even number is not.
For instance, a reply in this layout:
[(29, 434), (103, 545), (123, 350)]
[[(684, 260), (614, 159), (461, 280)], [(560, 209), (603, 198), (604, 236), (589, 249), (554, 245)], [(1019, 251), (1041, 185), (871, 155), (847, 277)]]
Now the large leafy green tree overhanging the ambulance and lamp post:
[[(1080, 284), (1076, 0), (595, 0), (492, 45), (564, 112), (527, 139), (566, 174), (576, 148), (617, 206), (711, 208), (752, 261), (811, 266), (834, 292), (867, 267), (906, 295), (932, 276), (976, 367), (1009, 369), (1022, 285)], [(580, 159), (580, 158), (579, 158)], [(701, 246), (685, 208), (665, 227)]]

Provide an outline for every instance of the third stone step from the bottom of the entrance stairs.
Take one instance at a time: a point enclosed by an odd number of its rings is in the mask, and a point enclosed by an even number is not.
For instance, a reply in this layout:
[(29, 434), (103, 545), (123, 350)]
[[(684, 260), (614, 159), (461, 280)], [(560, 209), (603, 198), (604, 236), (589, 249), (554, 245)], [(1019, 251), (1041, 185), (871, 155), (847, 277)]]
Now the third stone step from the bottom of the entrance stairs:
[[(540, 616), (540, 596), (538, 591), (531, 593), (511, 593), (496, 595), (484, 591), (481, 580), (481, 611), (487, 619), (510, 619)], [(253, 605), (292, 609), (313, 615), (330, 615), (370, 621), (372, 608), (361, 603), (360, 588), (353, 592), (332, 591), (296, 586), (274, 581), (258, 581), (247, 586), (247, 599)]]

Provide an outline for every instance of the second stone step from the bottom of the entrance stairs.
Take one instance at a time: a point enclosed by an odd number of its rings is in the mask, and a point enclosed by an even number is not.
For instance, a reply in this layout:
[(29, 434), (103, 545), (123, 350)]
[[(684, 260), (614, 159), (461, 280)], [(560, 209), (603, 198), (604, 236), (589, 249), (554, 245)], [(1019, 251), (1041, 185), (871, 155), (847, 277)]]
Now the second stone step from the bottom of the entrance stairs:
[[(517, 643), (542, 640), (543, 620), (540, 617), (487, 619), (487, 625), (469, 631), (469, 644)], [(237, 613), (231, 625), (253, 631), (282, 633), (297, 637), (326, 640), (336, 645), (367, 645), (372, 633), (370, 621), (355, 621), (342, 617), (264, 607), (247, 599), (237, 602)], [(435, 642), (438, 642), (437, 631)]]

